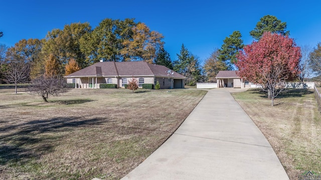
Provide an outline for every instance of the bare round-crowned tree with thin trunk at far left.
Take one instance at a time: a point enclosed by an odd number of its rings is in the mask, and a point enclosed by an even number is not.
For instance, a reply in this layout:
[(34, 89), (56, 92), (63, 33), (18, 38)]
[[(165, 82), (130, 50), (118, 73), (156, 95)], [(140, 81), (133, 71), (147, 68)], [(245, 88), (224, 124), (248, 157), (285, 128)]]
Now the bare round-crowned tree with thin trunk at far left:
[(15, 92), (17, 93), (17, 84), (29, 81), (30, 65), (24, 61), (15, 60), (7, 64), (5, 77), (7, 83), (15, 84)]

